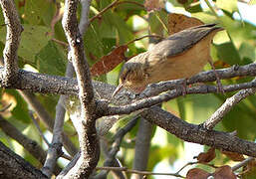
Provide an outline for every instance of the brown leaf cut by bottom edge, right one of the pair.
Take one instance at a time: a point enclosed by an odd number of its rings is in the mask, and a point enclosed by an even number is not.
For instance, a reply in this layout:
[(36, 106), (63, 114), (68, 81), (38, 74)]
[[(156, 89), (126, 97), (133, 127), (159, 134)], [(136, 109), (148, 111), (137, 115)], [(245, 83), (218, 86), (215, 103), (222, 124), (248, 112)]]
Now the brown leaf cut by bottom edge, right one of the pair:
[(224, 165), (216, 169), (213, 173), (214, 179), (236, 179), (236, 175), (228, 165)]

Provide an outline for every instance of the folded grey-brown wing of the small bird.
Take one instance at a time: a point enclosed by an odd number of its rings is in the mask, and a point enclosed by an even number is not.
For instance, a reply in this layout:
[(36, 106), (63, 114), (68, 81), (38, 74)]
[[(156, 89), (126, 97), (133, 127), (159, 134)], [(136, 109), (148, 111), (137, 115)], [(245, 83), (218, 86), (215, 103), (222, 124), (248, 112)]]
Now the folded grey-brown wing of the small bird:
[(216, 24), (206, 24), (180, 31), (154, 45), (150, 51), (150, 56), (168, 58), (179, 55), (193, 47), (211, 32), (221, 30), (223, 29), (217, 27)]

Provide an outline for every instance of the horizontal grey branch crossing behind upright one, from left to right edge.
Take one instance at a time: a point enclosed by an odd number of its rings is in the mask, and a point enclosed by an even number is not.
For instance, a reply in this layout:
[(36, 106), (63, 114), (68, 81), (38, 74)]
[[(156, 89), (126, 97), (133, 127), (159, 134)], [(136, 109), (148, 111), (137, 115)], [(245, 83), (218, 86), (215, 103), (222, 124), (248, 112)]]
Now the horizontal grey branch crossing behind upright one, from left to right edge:
[[(4, 69), (0, 68), (0, 73), (3, 73)], [(231, 79), (234, 77), (255, 77), (256, 76), (256, 63), (241, 66), (241, 67), (231, 67), (222, 70), (216, 70), (220, 79)], [(213, 71), (202, 72), (198, 75), (193, 76), (190, 80), (187, 81), (187, 85), (192, 85), (195, 83), (206, 83), (213, 82), (216, 80), (216, 77)], [(161, 82), (149, 86), (144, 93), (146, 96), (155, 95), (162, 91), (168, 89), (175, 89), (177, 85), (182, 85), (184, 80), (175, 80), (169, 82)], [(6, 89), (26, 89), (33, 92), (43, 92), (43, 93), (59, 93), (59, 94), (77, 94), (78, 93), (78, 84), (75, 79), (58, 77), (58, 76), (49, 76), (45, 74), (38, 74), (19, 70), (17, 81), (10, 86), (6, 86), (3, 83), (3, 80), (0, 79), (0, 88)], [(111, 99), (114, 87), (106, 85), (100, 82), (94, 82), (94, 88), (97, 92), (101, 94), (102, 98)], [(120, 92), (117, 96), (124, 95), (128, 92)], [(115, 103), (127, 103), (127, 101), (122, 101), (121, 98), (117, 98)]]

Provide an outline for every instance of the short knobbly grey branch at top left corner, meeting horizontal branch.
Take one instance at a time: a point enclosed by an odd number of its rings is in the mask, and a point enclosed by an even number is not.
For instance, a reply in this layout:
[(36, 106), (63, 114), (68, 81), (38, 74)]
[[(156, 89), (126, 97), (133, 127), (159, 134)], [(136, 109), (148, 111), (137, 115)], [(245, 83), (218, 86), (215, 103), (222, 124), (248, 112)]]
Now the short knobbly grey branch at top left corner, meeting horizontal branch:
[[(3, 52), (4, 71), (1, 73), (1, 78), (5, 86), (11, 86), (12, 80), (18, 72), (18, 47), (20, 42), (21, 26), (18, 13), (15, 8), (14, 1), (1, 0), (5, 24), (7, 26), (6, 43)], [(11, 83), (11, 84), (10, 84)]]

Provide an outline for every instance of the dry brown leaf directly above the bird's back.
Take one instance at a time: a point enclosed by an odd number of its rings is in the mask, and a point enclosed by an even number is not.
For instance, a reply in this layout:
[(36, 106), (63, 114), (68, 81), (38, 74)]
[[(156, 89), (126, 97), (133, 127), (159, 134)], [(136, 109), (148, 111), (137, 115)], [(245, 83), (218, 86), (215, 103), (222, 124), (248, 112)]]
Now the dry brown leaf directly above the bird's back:
[(172, 35), (184, 29), (203, 24), (199, 19), (187, 17), (183, 14), (171, 13), (168, 15), (168, 34)]

